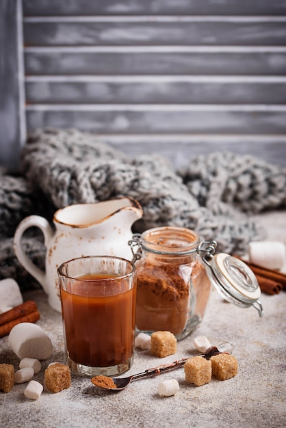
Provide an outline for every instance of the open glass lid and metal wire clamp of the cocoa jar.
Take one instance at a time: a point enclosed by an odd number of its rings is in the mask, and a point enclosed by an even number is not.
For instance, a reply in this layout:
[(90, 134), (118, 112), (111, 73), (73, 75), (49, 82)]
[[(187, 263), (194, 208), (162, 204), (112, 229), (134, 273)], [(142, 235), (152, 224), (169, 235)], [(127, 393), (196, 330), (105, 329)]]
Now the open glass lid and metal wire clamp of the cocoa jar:
[[(133, 235), (129, 245), (133, 253), (132, 261), (135, 263), (136, 260), (140, 260), (142, 249), (144, 250), (144, 241), (142, 241), (141, 235)], [(200, 241), (197, 248), (181, 252), (180, 255), (199, 254), (211, 284), (220, 295), (228, 302), (241, 308), (253, 306), (259, 312), (259, 316), (262, 317), (263, 308), (259, 302), (261, 290), (255, 274), (242, 260), (225, 253), (216, 254), (217, 246), (216, 241)], [(156, 250), (150, 248), (148, 251), (157, 253)]]

